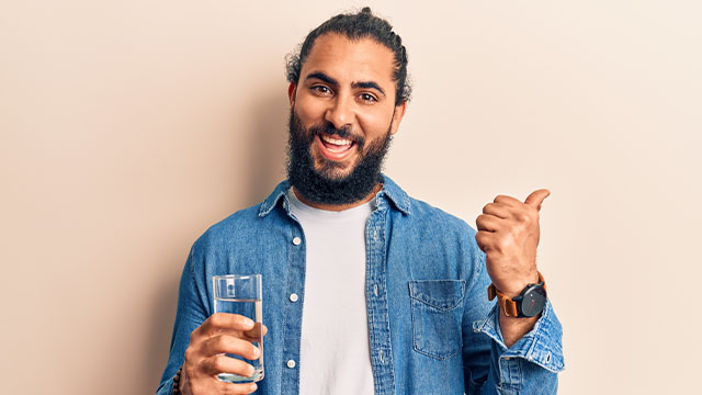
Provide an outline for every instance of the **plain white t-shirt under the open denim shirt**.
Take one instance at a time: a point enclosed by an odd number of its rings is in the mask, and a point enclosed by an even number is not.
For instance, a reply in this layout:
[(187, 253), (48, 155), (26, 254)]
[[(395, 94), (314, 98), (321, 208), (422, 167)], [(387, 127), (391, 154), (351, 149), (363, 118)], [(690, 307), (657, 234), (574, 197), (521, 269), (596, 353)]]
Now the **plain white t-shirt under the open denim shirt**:
[(372, 201), (341, 212), (302, 203), (287, 192), (305, 234), (305, 295), (299, 393), (372, 395), (365, 306), (365, 223)]

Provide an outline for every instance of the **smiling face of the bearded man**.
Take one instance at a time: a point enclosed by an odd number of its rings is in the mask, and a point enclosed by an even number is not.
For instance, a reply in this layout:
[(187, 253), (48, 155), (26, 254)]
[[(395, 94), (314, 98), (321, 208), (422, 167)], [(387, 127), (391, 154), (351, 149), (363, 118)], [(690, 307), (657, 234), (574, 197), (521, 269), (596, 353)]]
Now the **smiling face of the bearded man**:
[(337, 183), (358, 178), (354, 171), (369, 177), (362, 168), (378, 155), (380, 168), (405, 112), (404, 103), (395, 106), (393, 63), (392, 50), (370, 38), (325, 34), (316, 40), (290, 100), (291, 148), (294, 138), (298, 146), (305, 142), (317, 176)]

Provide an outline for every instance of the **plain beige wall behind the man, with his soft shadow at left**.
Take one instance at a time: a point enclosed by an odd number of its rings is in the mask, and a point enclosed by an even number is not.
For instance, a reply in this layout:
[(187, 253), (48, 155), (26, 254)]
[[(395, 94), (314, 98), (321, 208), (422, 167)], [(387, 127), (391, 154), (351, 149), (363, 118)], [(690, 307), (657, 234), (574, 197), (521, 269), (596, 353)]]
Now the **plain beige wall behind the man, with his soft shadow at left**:
[[(354, 4), (0, 1), (1, 393), (154, 392), (191, 244), (284, 177), (284, 55)], [(387, 173), (469, 223), (553, 191), (561, 393), (699, 391), (699, 2), (374, 9), (416, 81)]]

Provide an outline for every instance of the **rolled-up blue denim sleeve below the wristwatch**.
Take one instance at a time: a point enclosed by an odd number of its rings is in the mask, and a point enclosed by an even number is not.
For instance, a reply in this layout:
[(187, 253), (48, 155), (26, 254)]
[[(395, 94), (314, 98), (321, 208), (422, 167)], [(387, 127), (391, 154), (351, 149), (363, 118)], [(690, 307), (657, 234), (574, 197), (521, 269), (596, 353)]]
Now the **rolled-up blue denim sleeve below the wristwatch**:
[[(563, 329), (550, 301), (536, 324), (507, 348), (499, 325), (499, 309), (487, 298), (490, 284), (484, 256), (477, 280), (466, 295), (464, 312), (464, 371), (466, 394), (556, 394), (558, 372), (565, 368)], [(466, 323), (467, 324), (467, 323)]]

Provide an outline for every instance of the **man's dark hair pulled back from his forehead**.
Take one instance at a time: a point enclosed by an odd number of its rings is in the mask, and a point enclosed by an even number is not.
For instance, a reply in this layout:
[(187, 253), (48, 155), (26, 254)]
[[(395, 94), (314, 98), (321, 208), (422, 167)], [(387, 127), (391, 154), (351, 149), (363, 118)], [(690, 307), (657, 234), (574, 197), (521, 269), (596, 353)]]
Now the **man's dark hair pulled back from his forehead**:
[(315, 41), (327, 33), (341, 34), (354, 41), (373, 38), (378, 44), (390, 49), (395, 55), (395, 75), (393, 76), (395, 81), (395, 105), (399, 105), (403, 101), (409, 101), (411, 87), (407, 80), (407, 50), (403, 45), (403, 40), (393, 32), (393, 26), (386, 20), (373, 15), (370, 7), (364, 7), (358, 13), (332, 16), (309, 32), (299, 50), (290, 54), (286, 58), (288, 82), (298, 83), (299, 71), (307, 56), (309, 56)]

